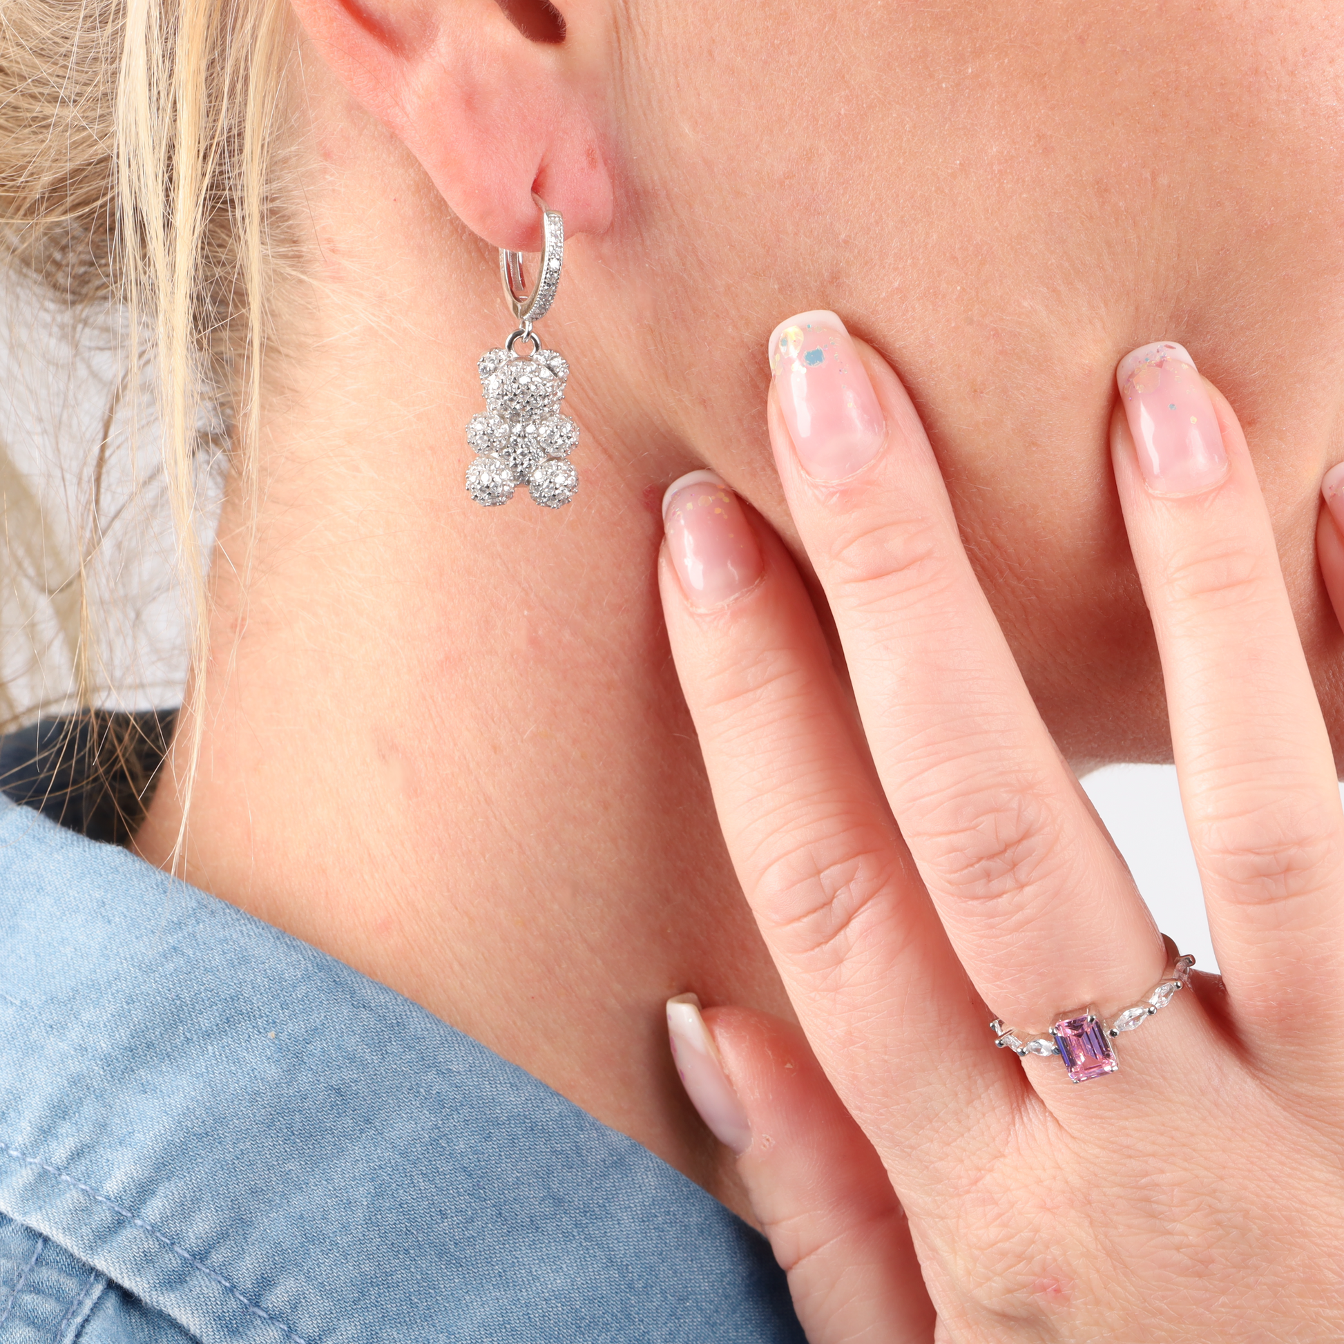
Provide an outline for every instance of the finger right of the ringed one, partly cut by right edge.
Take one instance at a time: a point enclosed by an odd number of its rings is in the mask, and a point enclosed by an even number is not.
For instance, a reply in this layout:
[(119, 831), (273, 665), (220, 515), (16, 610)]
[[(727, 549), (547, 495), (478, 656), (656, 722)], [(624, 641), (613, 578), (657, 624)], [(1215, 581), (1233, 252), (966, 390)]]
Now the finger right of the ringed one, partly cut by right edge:
[(1340, 1016), (1335, 759), (1231, 407), (1171, 343), (1117, 380), (1111, 456), (1218, 962), (1242, 1027), (1279, 1052)]

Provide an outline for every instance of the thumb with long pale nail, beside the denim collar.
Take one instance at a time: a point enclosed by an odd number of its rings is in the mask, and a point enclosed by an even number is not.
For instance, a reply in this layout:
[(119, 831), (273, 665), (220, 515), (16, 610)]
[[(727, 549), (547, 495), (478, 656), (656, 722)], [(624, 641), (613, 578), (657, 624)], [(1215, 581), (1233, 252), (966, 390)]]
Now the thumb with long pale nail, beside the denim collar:
[(934, 1310), (900, 1202), (797, 1027), (668, 1001), (687, 1095), (738, 1153), (810, 1344), (929, 1344)]

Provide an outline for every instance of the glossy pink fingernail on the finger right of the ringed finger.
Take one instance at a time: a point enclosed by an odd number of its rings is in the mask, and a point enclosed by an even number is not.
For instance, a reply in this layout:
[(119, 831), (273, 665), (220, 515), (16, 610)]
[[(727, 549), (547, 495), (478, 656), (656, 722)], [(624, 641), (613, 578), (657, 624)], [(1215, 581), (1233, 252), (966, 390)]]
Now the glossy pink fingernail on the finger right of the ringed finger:
[(1154, 495), (1199, 495), (1227, 476), (1214, 403), (1184, 345), (1141, 345), (1120, 362), (1116, 382)]

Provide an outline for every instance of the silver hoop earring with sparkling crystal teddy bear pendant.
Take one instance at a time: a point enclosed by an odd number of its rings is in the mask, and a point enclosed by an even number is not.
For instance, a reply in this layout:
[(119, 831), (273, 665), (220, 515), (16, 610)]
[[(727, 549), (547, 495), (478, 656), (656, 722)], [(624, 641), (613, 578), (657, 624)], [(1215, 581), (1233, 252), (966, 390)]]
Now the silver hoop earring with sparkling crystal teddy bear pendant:
[[(507, 504), (513, 487), (527, 481), (532, 499), (546, 508), (559, 508), (574, 499), (579, 474), (569, 462), (579, 441), (579, 427), (560, 414), (570, 366), (563, 355), (544, 349), (532, 332), (555, 298), (564, 257), (564, 222), (559, 211), (542, 207), (542, 262), (531, 290), (524, 289), (521, 253), (500, 249), (504, 293), (519, 327), (503, 349), (481, 355), (476, 366), (485, 394), (485, 414), (466, 426), (468, 446), (477, 453), (466, 468), (466, 493), (487, 507)], [(520, 297), (519, 290), (524, 290)], [(513, 345), (527, 340), (527, 356)]]

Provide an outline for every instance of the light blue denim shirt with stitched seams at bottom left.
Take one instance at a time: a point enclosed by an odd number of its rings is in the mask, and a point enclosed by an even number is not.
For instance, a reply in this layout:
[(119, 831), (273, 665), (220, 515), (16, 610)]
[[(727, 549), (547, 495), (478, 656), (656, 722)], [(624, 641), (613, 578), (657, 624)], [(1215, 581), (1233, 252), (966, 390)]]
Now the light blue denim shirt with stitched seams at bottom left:
[(766, 1242), (399, 995), (0, 802), (3, 1344), (801, 1344)]

